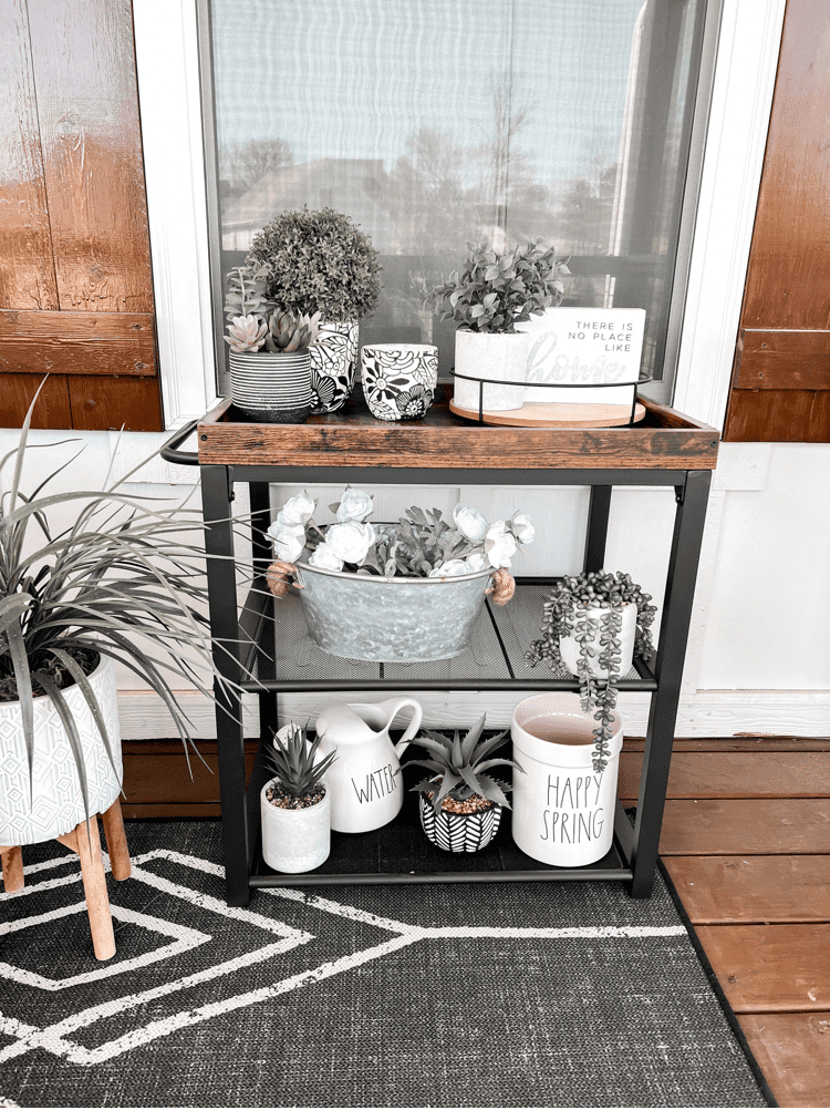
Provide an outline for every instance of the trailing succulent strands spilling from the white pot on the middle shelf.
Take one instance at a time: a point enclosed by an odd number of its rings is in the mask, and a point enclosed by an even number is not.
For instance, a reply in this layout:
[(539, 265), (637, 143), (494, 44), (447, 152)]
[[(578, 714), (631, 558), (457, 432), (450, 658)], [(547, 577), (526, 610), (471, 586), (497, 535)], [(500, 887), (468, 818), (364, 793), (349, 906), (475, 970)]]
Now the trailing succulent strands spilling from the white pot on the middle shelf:
[[(617, 683), (621, 678), (621, 630), (623, 607), (637, 606), (637, 634), (635, 654), (648, 658), (654, 650), (650, 625), (657, 612), (649, 605), (652, 595), (646, 594), (629, 574), (605, 571), (590, 571), (576, 575), (565, 575), (546, 596), (542, 617), (542, 635), (525, 652), (525, 659), (532, 667), (545, 659), (552, 670), (564, 667), (560, 652), (560, 640), (573, 636), (578, 645), (576, 663), (580, 679), (580, 699), (584, 713), (594, 713), (598, 725), (594, 729), (593, 764), (596, 774), (605, 770), (608, 763), (608, 743), (614, 735), (613, 710), (617, 704)], [(588, 609), (601, 609), (600, 654), (594, 646), (596, 624), (588, 618)], [(596, 658), (598, 667), (607, 672), (607, 678), (596, 678), (591, 670), (591, 659)]]

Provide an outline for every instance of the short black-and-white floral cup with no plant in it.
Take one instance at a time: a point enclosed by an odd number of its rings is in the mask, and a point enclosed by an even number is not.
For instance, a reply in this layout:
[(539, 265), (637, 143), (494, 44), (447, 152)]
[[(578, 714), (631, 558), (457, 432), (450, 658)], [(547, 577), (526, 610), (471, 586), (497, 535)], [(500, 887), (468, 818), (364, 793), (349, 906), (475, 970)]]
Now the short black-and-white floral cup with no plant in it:
[(438, 347), (372, 343), (361, 356), (363, 396), (378, 420), (420, 420), (438, 383)]

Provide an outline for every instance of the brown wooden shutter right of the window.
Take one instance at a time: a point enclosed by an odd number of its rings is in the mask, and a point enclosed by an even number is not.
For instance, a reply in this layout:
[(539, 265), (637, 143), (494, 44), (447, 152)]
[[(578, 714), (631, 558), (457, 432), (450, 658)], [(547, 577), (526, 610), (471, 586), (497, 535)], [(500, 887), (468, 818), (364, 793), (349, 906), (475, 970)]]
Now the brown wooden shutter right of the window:
[(788, 0), (725, 440), (830, 442), (830, 0)]

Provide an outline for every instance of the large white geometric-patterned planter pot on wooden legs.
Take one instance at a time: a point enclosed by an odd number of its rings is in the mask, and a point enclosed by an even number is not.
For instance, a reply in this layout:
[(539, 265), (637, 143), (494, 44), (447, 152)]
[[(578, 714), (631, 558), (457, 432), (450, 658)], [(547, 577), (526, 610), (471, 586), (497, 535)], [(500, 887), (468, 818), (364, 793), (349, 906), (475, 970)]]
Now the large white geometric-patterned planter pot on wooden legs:
[[(62, 690), (81, 737), (90, 814), (115, 801), (123, 778), (115, 665), (102, 657), (89, 676), (110, 737), (113, 770), (92, 712), (78, 686)], [(48, 697), (34, 699), (33, 798), (29, 804), (29, 760), (18, 702), (0, 702), (0, 844), (40, 844), (84, 820), (83, 796), (66, 731)]]

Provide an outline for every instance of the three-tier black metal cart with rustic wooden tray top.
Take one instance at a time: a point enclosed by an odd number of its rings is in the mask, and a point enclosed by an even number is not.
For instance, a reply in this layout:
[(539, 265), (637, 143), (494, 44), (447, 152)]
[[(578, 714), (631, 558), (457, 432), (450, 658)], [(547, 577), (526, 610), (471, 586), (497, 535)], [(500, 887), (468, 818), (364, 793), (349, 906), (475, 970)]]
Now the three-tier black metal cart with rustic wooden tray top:
[[(426, 844), (420, 829), (398, 821), (376, 833), (332, 834), (332, 851), (305, 875), (270, 871), (259, 851), (260, 759), (245, 781), (242, 696), (217, 694), (223, 844), (228, 905), (247, 905), (258, 887), (389, 882), (619, 880), (633, 897), (650, 896), (668, 781), (695, 579), (718, 432), (641, 397), (639, 424), (608, 428), (482, 426), (452, 414), (439, 387), (420, 421), (375, 420), (361, 397), (305, 424), (245, 423), (229, 401), (176, 432), (162, 451), (170, 462), (198, 465), (208, 525), (207, 582), (216, 665), (240, 690), (258, 695), (259, 733), (277, 727), (277, 697), (297, 690), (577, 690), (572, 677), (530, 670), (523, 653), (537, 632), (542, 599), (553, 579), (519, 579), (504, 610), (488, 605), (473, 634), (474, 650), (432, 664), (351, 664), (309, 646), (296, 601), (274, 599), (264, 573), (271, 561), (268, 484), (386, 483), (591, 487), (584, 568), (603, 567), (615, 485), (672, 486), (676, 513), (655, 655), (636, 659), (621, 690), (650, 694), (648, 729), (634, 825), (617, 803), (614, 847), (584, 868), (546, 867), (524, 856), (500, 831), (483, 852), (461, 857)], [(197, 434), (198, 451), (178, 450)], [(255, 575), (237, 605), (234, 486), (250, 492)], [(519, 699), (519, 693), (518, 693)], [(481, 857), (481, 858), (479, 858)]]

